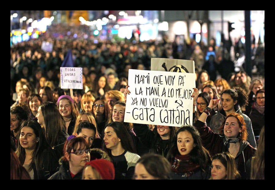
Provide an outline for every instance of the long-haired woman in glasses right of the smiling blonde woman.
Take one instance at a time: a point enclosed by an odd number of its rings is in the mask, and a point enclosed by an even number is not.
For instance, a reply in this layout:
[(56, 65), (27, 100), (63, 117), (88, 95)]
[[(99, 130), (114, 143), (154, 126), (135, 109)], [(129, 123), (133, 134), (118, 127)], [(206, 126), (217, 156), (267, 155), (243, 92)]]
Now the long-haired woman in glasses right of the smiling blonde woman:
[(104, 127), (108, 121), (108, 115), (110, 113), (109, 106), (106, 102), (105, 96), (98, 96), (94, 100), (93, 114), (97, 124), (97, 130), (101, 137), (104, 136)]

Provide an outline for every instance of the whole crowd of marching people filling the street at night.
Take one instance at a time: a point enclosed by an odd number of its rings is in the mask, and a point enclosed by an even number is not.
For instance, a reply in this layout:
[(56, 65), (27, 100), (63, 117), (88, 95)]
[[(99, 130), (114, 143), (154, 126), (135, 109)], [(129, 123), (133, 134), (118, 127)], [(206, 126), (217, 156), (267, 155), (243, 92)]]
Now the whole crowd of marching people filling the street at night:
[[(215, 39), (176, 48), (52, 34), (11, 47), (11, 179), (264, 179), (264, 82), (225, 66)], [(83, 70), (72, 94), (60, 86), (69, 49)], [(152, 57), (195, 61), (192, 125), (124, 122), (128, 70), (150, 70)]]

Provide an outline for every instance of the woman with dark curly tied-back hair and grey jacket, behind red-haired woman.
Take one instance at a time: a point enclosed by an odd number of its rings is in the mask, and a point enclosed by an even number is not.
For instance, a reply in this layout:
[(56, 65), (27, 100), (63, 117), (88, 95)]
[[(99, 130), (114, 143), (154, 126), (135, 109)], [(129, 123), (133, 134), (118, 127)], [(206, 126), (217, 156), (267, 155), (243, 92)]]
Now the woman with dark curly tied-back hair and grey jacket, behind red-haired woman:
[(212, 131), (214, 131), (215, 133), (220, 133), (221, 131), (219, 128), (222, 125), (226, 116), (228, 116), (230, 113), (239, 113), (243, 116), (246, 124), (247, 132), (248, 132), (247, 141), (250, 143), (251, 146), (256, 148), (257, 145), (256, 145), (256, 140), (252, 129), (251, 120), (247, 115), (245, 115), (241, 111), (241, 107), (247, 105), (247, 103), (248, 103), (248, 95), (243, 88), (233, 87), (222, 91), (222, 94), (221, 94), (222, 110), (211, 117), (210, 125), (208, 127), (210, 127)]

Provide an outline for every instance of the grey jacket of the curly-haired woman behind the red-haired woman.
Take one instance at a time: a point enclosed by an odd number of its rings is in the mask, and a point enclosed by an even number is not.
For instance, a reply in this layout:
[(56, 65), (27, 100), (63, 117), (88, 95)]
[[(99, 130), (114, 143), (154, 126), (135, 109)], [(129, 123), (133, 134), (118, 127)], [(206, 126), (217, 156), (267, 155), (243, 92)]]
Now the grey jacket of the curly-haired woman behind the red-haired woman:
[[(246, 124), (246, 129), (247, 129), (247, 133), (248, 133), (247, 141), (249, 142), (249, 144), (251, 146), (253, 146), (254, 148), (257, 148), (257, 144), (256, 144), (256, 140), (255, 140), (255, 136), (254, 136), (254, 132), (252, 129), (252, 123), (251, 123), (250, 118), (247, 115), (245, 115), (244, 113), (242, 113), (240, 111), (240, 108), (237, 109), (236, 113), (241, 114), (244, 118), (244, 122)], [(219, 133), (218, 128), (221, 127), (222, 122), (225, 120), (225, 118), (226, 118), (226, 113), (223, 109), (220, 112), (216, 113), (214, 116), (212, 116), (211, 120), (210, 120), (210, 125), (209, 125), (211, 130), (214, 131), (215, 133)]]

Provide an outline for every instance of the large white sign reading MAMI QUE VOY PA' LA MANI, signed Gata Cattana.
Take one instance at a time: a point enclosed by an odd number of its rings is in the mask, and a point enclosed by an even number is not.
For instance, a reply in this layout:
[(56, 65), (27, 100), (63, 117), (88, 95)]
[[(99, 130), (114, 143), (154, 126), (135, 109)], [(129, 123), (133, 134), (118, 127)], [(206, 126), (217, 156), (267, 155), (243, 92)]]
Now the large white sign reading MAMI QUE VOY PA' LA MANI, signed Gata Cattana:
[(194, 73), (129, 69), (124, 122), (180, 127), (193, 124)]

